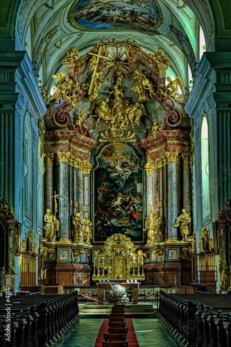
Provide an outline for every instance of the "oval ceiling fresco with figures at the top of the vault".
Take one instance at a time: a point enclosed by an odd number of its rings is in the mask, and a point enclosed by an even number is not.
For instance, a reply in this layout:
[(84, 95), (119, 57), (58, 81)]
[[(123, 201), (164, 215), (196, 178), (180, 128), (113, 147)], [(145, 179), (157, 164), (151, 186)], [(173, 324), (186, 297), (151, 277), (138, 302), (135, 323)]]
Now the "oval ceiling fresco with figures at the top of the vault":
[(78, 0), (71, 8), (71, 23), (92, 30), (129, 30), (149, 35), (162, 25), (157, 0)]

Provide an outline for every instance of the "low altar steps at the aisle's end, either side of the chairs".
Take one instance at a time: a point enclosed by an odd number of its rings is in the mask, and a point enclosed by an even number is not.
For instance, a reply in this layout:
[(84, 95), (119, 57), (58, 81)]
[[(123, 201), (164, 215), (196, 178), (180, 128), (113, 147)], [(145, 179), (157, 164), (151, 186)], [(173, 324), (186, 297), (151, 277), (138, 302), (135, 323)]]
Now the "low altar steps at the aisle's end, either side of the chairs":
[[(108, 318), (112, 312), (112, 305), (98, 305), (86, 303), (79, 305), (81, 318)], [(157, 310), (152, 303), (146, 304), (126, 304), (125, 316), (127, 318), (157, 318)]]

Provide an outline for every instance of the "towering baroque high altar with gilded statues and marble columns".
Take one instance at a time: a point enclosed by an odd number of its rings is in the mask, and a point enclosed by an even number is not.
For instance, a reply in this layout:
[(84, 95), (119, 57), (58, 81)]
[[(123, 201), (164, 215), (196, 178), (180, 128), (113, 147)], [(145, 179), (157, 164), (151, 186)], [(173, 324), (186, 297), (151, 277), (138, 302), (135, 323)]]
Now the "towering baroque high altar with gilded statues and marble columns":
[(105, 38), (53, 75), (44, 135), (41, 283), (187, 285), (191, 127), (187, 89), (160, 48)]

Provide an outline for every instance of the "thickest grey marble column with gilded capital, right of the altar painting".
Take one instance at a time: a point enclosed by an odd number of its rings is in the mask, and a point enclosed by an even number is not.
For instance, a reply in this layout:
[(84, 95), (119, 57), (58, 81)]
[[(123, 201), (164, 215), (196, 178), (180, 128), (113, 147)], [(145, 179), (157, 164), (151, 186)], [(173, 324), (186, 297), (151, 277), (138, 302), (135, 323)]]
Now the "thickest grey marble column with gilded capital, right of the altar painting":
[(179, 153), (166, 152), (167, 159), (167, 238), (177, 239), (178, 230), (174, 227), (180, 211)]

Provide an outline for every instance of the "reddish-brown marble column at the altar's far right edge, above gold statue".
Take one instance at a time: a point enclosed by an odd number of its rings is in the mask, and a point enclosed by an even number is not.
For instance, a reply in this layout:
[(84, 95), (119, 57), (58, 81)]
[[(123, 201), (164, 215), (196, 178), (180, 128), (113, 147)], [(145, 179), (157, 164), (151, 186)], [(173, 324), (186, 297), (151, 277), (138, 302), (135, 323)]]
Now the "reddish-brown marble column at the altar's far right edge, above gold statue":
[(190, 153), (182, 153), (182, 207), (191, 212), (191, 170)]

